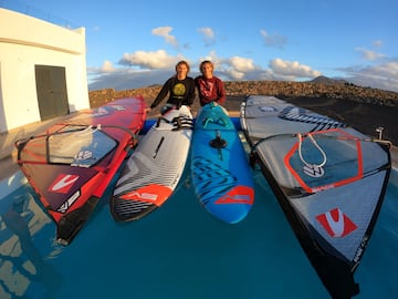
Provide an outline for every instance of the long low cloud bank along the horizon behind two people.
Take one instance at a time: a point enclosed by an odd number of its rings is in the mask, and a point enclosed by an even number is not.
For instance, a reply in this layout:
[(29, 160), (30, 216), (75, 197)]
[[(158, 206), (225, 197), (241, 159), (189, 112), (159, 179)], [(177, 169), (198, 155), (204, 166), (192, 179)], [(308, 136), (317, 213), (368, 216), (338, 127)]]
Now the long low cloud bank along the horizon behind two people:
[[(185, 59), (182, 55), (169, 55), (165, 50), (125, 53), (119, 61), (122, 68), (115, 68), (109, 61), (104, 61), (101, 68), (87, 68), (91, 79), (88, 87), (90, 90), (107, 87), (126, 90), (163, 84), (175, 73), (176, 63), (182, 59)], [(220, 58), (216, 51), (211, 51), (207, 56), (191, 63), (191, 76), (199, 74), (198, 65), (203, 60), (212, 61), (216, 66), (214, 74), (224, 81), (302, 81), (321, 75), (321, 72), (298, 61), (277, 58), (269, 62), (269, 68), (264, 68), (255, 64), (251, 58)], [(342, 79), (357, 85), (398, 92), (397, 59), (389, 59), (389, 61), (385, 59), (384, 63), (373, 65), (355, 65), (335, 70), (342, 73)]]

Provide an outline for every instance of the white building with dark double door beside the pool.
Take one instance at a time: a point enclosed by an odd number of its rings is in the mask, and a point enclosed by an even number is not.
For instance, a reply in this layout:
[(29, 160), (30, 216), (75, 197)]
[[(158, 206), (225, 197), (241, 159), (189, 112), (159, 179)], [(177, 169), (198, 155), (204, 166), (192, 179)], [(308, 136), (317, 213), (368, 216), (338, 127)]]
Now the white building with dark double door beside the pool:
[(90, 107), (85, 29), (0, 8), (0, 133)]

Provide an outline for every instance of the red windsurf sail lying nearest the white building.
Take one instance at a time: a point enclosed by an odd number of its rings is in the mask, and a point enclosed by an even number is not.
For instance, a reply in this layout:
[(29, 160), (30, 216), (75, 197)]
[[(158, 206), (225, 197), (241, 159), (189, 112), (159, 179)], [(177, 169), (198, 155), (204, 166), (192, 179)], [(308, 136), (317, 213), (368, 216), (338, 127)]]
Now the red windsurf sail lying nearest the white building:
[(56, 223), (56, 239), (72, 241), (144, 125), (142, 97), (83, 111), (43, 134), (20, 140), (18, 163)]

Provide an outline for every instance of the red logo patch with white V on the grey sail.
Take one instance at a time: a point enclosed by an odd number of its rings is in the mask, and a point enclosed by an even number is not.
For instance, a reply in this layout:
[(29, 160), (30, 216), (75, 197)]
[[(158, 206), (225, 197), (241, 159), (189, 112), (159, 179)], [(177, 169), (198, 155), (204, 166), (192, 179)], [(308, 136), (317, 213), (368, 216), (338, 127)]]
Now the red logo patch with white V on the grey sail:
[(334, 238), (342, 238), (354, 231), (357, 226), (339, 208), (316, 216), (318, 223), (327, 234)]

